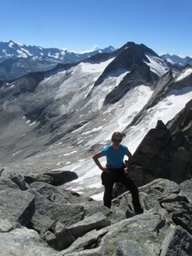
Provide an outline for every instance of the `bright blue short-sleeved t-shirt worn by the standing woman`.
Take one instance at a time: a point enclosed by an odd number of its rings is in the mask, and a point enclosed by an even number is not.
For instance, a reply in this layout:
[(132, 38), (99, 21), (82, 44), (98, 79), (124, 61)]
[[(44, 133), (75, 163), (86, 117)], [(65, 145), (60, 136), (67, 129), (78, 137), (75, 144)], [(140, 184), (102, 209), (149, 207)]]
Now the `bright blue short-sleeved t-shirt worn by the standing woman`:
[(119, 169), (125, 166), (124, 156), (129, 153), (129, 149), (122, 144), (119, 144), (119, 150), (114, 150), (112, 145), (102, 148), (102, 154), (107, 158), (107, 166), (113, 169)]

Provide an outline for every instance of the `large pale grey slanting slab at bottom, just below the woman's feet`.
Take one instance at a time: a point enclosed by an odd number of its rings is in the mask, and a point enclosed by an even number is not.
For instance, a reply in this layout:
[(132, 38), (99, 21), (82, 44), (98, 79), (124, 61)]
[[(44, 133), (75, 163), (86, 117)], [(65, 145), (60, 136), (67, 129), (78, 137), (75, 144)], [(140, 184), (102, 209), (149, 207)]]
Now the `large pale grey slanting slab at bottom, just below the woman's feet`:
[(119, 241), (133, 240), (145, 244), (152, 255), (158, 255), (167, 229), (170, 228), (166, 224), (166, 219), (161, 218), (159, 214), (142, 214), (122, 220), (102, 230), (91, 231), (79, 237), (71, 247), (61, 253), (70, 255), (75, 251), (82, 251), (83, 248), (96, 248), (98, 255), (110, 255), (115, 252)]

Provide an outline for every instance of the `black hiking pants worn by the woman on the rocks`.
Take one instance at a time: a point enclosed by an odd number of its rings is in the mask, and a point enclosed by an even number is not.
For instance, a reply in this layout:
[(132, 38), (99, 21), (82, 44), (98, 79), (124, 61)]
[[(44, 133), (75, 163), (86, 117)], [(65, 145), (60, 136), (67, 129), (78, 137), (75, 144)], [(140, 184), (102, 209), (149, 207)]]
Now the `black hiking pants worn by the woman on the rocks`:
[(124, 167), (121, 169), (110, 169), (110, 172), (102, 172), (102, 185), (104, 185), (104, 195), (103, 203), (104, 206), (110, 209), (112, 194), (113, 194), (113, 184), (122, 183), (126, 189), (130, 190), (132, 196), (132, 205), (136, 214), (143, 211), (140, 201), (139, 193), (136, 184), (132, 181), (131, 177), (128, 177), (124, 172)]

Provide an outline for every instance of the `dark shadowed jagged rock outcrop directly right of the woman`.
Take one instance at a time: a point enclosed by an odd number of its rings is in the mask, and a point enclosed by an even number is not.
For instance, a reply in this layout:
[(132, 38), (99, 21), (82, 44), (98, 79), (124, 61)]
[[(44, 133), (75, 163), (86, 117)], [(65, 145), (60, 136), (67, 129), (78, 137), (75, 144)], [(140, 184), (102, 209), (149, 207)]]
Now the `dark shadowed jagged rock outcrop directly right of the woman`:
[(157, 177), (176, 183), (192, 177), (192, 101), (166, 126), (158, 121), (133, 155), (130, 175), (138, 185)]

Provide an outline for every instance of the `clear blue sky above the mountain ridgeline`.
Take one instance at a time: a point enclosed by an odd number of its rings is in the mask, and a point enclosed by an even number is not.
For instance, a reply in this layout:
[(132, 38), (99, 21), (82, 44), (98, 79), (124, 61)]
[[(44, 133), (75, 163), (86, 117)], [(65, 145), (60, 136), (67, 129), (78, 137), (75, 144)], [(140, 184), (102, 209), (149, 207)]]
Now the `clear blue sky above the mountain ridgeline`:
[(1, 0), (0, 41), (81, 52), (127, 42), (192, 56), (191, 0)]

